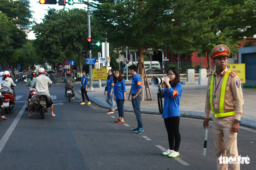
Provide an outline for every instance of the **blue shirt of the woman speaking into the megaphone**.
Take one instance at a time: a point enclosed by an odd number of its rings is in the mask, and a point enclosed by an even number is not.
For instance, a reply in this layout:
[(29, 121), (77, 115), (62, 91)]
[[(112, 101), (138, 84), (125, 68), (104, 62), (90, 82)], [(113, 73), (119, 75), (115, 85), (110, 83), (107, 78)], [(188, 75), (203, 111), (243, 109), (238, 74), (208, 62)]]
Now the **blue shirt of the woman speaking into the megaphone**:
[(163, 103), (163, 118), (169, 118), (174, 116), (181, 116), (180, 114), (180, 100), (182, 94), (182, 85), (178, 83), (175, 87), (171, 87), (170, 90), (166, 87), (162, 98), (164, 98)]

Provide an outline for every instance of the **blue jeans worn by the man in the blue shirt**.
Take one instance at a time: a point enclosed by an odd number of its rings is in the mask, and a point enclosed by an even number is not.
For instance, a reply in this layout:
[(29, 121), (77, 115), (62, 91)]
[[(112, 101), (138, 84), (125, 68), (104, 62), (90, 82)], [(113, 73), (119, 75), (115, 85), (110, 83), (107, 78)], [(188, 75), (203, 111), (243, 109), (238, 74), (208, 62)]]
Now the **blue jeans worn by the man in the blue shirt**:
[[(132, 97), (135, 94), (132, 94)], [(141, 99), (142, 96), (141, 94), (139, 94), (135, 99), (132, 99), (132, 104), (133, 104), (133, 109), (134, 109), (134, 113), (136, 115), (137, 118), (137, 122), (138, 122), (138, 127), (142, 128), (142, 117), (141, 117), (141, 112), (140, 112), (140, 103), (141, 103)]]

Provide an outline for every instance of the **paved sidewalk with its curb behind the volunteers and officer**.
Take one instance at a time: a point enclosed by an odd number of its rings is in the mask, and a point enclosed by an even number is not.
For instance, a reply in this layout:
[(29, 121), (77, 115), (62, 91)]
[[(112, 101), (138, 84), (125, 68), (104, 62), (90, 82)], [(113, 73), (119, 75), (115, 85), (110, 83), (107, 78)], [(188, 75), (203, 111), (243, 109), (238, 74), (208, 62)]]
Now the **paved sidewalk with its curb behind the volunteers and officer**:
[[(56, 77), (56, 74), (54, 75)], [(60, 77), (56, 78), (57, 80), (62, 82)], [(131, 81), (131, 80), (130, 80)], [(181, 80), (182, 81), (182, 80)], [(80, 82), (76, 82), (80, 83)], [(149, 80), (149, 84), (151, 84), (151, 80)], [(97, 83), (95, 83), (97, 86)], [(132, 96), (130, 96), (128, 101), (128, 96), (130, 92), (131, 86), (126, 86), (126, 98), (127, 101), (124, 102), (124, 111), (126, 112), (134, 112), (132, 106)], [(157, 103), (157, 88), (153, 86), (149, 86), (151, 95), (153, 97), (153, 101), (144, 101), (141, 102), (141, 113), (147, 114), (160, 114)], [(143, 88), (144, 89), (144, 88)], [(197, 119), (204, 119), (204, 106), (206, 99), (206, 89), (207, 85), (183, 85), (182, 86), (182, 96), (180, 101), (180, 113), (181, 117), (190, 117)], [(88, 92), (88, 96), (90, 101), (101, 106), (102, 108), (106, 108), (106, 111), (110, 109), (110, 105), (105, 102), (106, 96), (104, 95), (105, 87), (95, 88), (95, 91)], [(150, 98), (149, 90), (148, 98)], [(78, 91), (81, 94), (81, 91)], [(243, 112), (244, 115), (241, 117), (240, 125), (254, 128), (256, 129), (256, 90), (244, 89), (244, 105)], [(146, 91), (144, 89), (144, 98), (147, 98)], [(117, 112), (117, 110), (115, 111)], [(211, 114), (212, 118), (213, 114)], [(203, 126), (203, 125), (202, 125)]]

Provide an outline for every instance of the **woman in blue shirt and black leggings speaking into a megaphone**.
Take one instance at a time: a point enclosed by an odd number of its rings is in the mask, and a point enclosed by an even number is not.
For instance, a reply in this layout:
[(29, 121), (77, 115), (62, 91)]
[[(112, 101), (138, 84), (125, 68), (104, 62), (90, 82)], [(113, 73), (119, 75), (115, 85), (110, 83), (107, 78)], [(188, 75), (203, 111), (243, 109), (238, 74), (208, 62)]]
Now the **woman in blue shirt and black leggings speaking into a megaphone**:
[(180, 125), (180, 99), (182, 85), (180, 83), (180, 71), (176, 67), (170, 67), (167, 77), (163, 77), (162, 97), (164, 97), (163, 114), (164, 125), (168, 133), (169, 149), (162, 154), (168, 157), (178, 157), (180, 153), (181, 135)]

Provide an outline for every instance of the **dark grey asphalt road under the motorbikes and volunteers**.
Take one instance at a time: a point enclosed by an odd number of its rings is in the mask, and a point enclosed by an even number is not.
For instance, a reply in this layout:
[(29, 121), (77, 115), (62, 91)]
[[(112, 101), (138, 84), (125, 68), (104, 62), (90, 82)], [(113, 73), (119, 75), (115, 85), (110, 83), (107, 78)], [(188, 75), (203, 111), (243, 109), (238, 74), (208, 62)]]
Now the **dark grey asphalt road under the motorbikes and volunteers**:
[[(159, 115), (143, 114), (144, 132), (136, 134), (134, 113), (124, 113), (124, 124), (116, 124), (118, 112), (106, 114), (106, 109), (92, 103), (80, 105), (81, 96), (71, 102), (64, 97), (64, 85), (53, 79), (49, 89), (54, 99), (55, 117), (46, 113), (28, 117), (25, 109), (27, 87), (17, 82), (15, 108), (0, 120), (1, 170), (166, 170), (216, 169), (211, 128), (206, 156), (202, 156), (204, 128), (202, 120), (181, 118), (181, 145), (178, 158), (162, 156), (168, 149), (167, 132)], [(74, 91), (79, 83), (74, 84)], [(49, 110), (50, 111), (50, 110)], [(19, 118), (20, 117), (20, 118)], [(211, 126), (211, 123), (210, 123)], [(250, 158), (241, 169), (256, 169), (256, 131), (241, 127), (238, 151)]]

